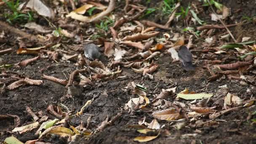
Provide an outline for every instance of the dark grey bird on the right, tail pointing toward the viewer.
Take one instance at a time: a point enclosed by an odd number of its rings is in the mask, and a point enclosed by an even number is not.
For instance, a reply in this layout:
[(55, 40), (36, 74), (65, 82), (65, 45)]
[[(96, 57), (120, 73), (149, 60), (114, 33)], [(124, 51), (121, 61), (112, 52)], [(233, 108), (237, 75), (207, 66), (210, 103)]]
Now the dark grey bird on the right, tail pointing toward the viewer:
[(192, 65), (192, 53), (185, 45), (182, 45), (179, 49), (178, 56), (183, 69), (186, 71), (195, 70), (195, 67)]

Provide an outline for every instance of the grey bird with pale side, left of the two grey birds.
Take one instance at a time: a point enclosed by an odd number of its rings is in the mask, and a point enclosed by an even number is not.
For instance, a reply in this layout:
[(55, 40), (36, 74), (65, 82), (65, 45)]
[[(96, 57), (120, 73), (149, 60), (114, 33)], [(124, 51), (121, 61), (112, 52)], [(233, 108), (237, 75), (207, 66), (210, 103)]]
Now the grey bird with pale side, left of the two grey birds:
[(83, 46), (83, 50), (85, 53), (85, 57), (91, 61), (99, 59), (101, 56), (101, 53), (99, 52), (99, 47), (93, 43), (85, 44)]

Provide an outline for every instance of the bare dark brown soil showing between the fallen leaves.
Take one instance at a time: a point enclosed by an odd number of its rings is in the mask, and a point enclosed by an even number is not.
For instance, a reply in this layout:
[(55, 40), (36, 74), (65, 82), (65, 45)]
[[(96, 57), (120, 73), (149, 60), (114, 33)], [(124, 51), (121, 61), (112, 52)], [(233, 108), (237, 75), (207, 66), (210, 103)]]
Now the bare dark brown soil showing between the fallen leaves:
[[(181, 5), (187, 5), (188, 2), (193, 0), (182, 0)], [(150, 3), (150, 5), (160, 5), (161, 0), (156, 0)], [(195, 3), (197, 0), (195, 0)], [(227, 19), (226, 24), (233, 24), (242, 21), (243, 16), (252, 17), (255, 15), (255, 0), (220, 0), (220, 3), (227, 5), (232, 13), (232, 19)], [(141, 2), (143, 3), (143, 2)], [(120, 3), (118, 3), (120, 4)], [(120, 4), (120, 8), (123, 7), (123, 3)], [(115, 10), (118, 11), (118, 10)], [(238, 12), (237, 12), (238, 11)], [(198, 16), (205, 20), (210, 21), (211, 17), (209, 12), (205, 10), (205, 13)], [(155, 22), (165, 23), (168, 18), (157, 19), (157, 14), (150, 15), (144, 19), (154, 20)], [(1, 19), (2, 20), (2, 19)], [(211, 24), (216, 24), (211, 21)], [(177, 22), (173, 24), (173, 32), (179, 32), (178, 27), (184, 27), (183, 22)], [(18, 27), (18, 25), (14, 25)], [(242, 37), (251, 37), (252, 40), (256, 39), (256, 25), (254, 22), (245, 24), (243, 26), (237, 26), (229, 28), (232, 34), (241, 40)], [(1, 32), (0, 28), (0, 32)], [(214, 35), (222, 34), (226, 32), (224, 29), (216, 30)], [(165, 32), (163, 32), (165, 33)], [(8, 37), (9, 41), (0, 47), (0, 50), (7, 48), (18, 48), (19, 42), (15, 37)], [(69, 43), (69, 42), (67, 42)], [(0, 43), (2, 45), (3, 43)], [(195, 48), (192, 50), (202, 50), (205, 44), (204, 40), (195, 40)], [(215, 46), (219, 46), (217, 44)], [(248, 100), (255, 99), (255, 74), (246, 73), (246, 76), (250, 77), (252, 83), (248, 85), (241, 85), (240, 80), (221, 78), (208, 82), (208, 78), (211, 77), (207, 68), (205, 67), (205, 61), (212, 53), (202, 53), (198, 51), (192, 51), (192, 54), (196, 56), (195, 65), (196, 70), (192, 72), (186, 72), (181, 68), (181, 63), (174, 62), (169, 53), (161, 53), (160, 58), (156, 59), (155, 64), (159, 64), (157, 71), (152, 73), (154, 79), (151, 80), (148, 77), (143, 76), (141, 73), (133, 72), (131, 68), (120, 67), (122, 73), (118, 74), (119, 77), (112, 77), (106, 80), (93, 81), (94, 86), (86, 85), (81, 88), (82, 94), (72, 99), (67, 99), (61, 102), (61, 97), (67, 93), (65, 85), (54, 83), (50, 80), (45, 80), (42, 75), (49, 75), (58, 77), (60, 79), (68, 79), (69, 75), (76, 69), (81, 69), (74, 64), (76, 61), (59, 61), (57, 64), (55, 61), (49, 59), (39, 59), (36, 62), (32, 62), (26, 67), (9, 69), (1, 69), (1, 72), (16, 72), (20, 77), (29, 77), (34, 80), (43, 80), (41, 85), (24, 85), (20, 88), (13, 90), (6, 90), (5, 93), (0, 95), (0, 115), (17, 115), (21, 119), (21, 125), (32, 122), (32, 117), (27, 114), (26, 106), (28, 105), (34, 112), (42, 111), (44, 115), (47, 115), (49, 119), (56, 118), (47, 112), (47, 107), (50, 104), (57, 105), (59, 103), (64, 104), (70, 111), (77, 112), (84, 106), (86, 101), (94, 99), (94, 101), (84, 109), (85, 114), (93, 115), (91, 119), (92, 129), (101, 125), (106, 117), (115, 117), (123, 109), (125, 104), (131, 99), (138, 97), (133, 94), (131, 90), (125, 89), (128, 83), (134, 82), (136, 84), (143, 85), (147, 90), (147, 97), (149, 101), (155, 99), (155, 96), (159, 94), (162, 89), (168, 89), (177, 87), (176, 93), (183, 91), (185, 88), (189, 88), (189, 91), (195, 91), (195, 93), (221, 93), (223, 96), (227, 95), (224, 91), (225, 88), (220, 88), (223, 85), (227, 85), (228, 92), (239, 96), (241, 99)], [(20, 55), (16, 53), (10, 53), (0, 55), (1, 64), (15, 64), (24, 59), (34, 58), (33, 55)], [(216, 56), (215, 59), (223, 59), (227, 55)], [(107, 57), (106, 57), (107, 59)], [(110, 59), (109, 59), (110, 61)], [(233, 61), (235, 62), (235, 61)], [(49, 67), (47, 70), (40, 72), (40, 69)], [(255, 68), (251, 69), (252, 71)], [(85, 72), (85, 75), (89, 73)], [(122, 77), (121, 77), (122, 76)], [(3, 76), (1, 76), (3, 78)], [(75, 81), (79, 83), (79, 78), (75, 77)], [(174, 101), (176, 96), (165, 98), (167, 101)], [(185, 104), (188, 104), (192, 100), (179, 100)], [(213, 106), (213, 102), (209, 105)], [(158, 120), (158, 123), (162, 126), (161, 133), (156, 139), (148, 141), (149, 144), (256, 144), (256, 126), (251, 124), (248, 120), (249, 114), (256, 111), (255, 104), (251, 107), (244, 107), (242, 109), (230, 112), (225, 115), (221, 115), (216, 119), (209, 119), (208, 116), (202, 116), (196, 120), (185, 121), (184, 128), (177, 130), (173, 128), (173, 125), (179, 123), (178, 121), (166, 121)], [(137, 141), (133, 141), (136, 136), (145, 136), (137, 132), (136, 128), (129, 128), (129, 125), (138, 124), (139, 120), (143, 120), (146, 117), (146, 122), (150, 123), (154, 118), (152, 117), (154, 110), (150, 107), (145, 109), (136, 109), (134, 112), (124, 111), (120, 118), (118, 118), (114, 125), (104, 128), (102, 131), (93, 134), (90, 137), (78, 136), (74, 144), (136, 144)], [(81, 115), (70, 118), (70, 125), (74, 127), (87, 122), (89, 115)], [(251, 119), (255, 119), (256, 115), (251, 115)], [(37, 129), (28, 131), (26, 133), (13, 133), (11, 130), (15, 127), (14, 120), (11, 118), (0, 120), (0, 141), (4, 141), (9, 136), (15, 136), (21, 142), (37, 139), (34, 135)], [(147, 136), (155, 136), (157, 132), (147, 133)], [(47, 137), (41, 141), (50, 142), (52, 144), (65, 144), (66, 139), (59, 138), (58, 136)]]

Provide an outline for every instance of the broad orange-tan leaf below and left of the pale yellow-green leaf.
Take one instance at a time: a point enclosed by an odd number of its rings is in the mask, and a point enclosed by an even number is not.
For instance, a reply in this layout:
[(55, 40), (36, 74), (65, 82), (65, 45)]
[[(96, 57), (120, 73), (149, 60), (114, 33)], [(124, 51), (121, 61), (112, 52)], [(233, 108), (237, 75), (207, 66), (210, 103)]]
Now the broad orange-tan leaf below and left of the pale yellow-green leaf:
[(178, 112), (176, 112), (175, 109), (164, 109), (158, 112), (153, 112), (152, 116), (158, 120), (179, 120), (182, 118), (182, 115), (180, 115)]

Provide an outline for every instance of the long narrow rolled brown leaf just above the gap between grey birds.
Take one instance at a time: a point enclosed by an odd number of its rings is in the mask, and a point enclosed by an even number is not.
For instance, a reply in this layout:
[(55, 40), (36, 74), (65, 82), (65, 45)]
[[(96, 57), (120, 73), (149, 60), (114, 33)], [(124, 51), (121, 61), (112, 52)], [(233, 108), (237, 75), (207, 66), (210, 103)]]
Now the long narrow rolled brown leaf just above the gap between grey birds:
[(135, 35), (126, 36), (122, 40), (132, 40), (132, 41), (133, 40), (147, 40), (150, 37), (157, 36), (159, 33), (160, 32), (151, 32), (151, 33), (144, 33), (144, 34), (138, 33), (138, 34), (135, 34)]

